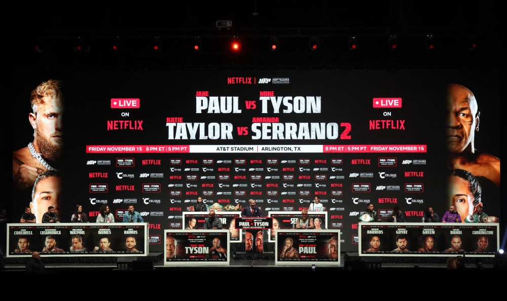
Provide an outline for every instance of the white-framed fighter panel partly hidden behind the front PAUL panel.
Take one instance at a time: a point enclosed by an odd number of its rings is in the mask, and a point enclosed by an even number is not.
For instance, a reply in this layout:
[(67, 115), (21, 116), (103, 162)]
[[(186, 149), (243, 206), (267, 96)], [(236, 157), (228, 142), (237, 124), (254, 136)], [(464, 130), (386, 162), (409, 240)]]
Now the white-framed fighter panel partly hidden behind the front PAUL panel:
[[(325, 230), (328, 221), (328, 212), (308, 211), (271, 211), (268, 216), (273, 218), (273, 229), (269, 230), (269, 241), (275, 241), (277, 229), (303, 229), (308, 219), (308, 229)], [(341, 227), (340, 227), (341, 228)]]

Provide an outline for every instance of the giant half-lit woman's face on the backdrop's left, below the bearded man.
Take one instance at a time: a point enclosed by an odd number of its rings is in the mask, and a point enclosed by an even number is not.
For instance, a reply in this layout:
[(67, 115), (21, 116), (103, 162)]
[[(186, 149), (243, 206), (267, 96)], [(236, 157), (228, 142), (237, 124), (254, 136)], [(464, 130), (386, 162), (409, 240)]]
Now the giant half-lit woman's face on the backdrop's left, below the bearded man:
[[(46, 215), (45, 213), (49, 213), (46, 211), (48, 207), (55, 208), (53, 210), (54, 214), (51, 214), (51, 216), (53, 217), (53, 222), (57, 221), (57, 218), (55, 219), (54, 217), (58, 216), (57, 211), (61, 204), (60, 191), (61, 178), (56, 171), (45, 171), (35, 179), (30, 209), (35, 214), (36, 222), (45, 222), (43, 219)], [(49, 222), (49, 220), (50, 219), (46, 219), (46, 222)]]

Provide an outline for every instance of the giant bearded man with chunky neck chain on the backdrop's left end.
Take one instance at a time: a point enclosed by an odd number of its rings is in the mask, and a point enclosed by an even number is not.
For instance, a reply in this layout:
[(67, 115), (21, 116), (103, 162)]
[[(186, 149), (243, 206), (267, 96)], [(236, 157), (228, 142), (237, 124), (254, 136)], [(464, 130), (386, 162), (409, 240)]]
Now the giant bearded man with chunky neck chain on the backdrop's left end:
[(16, 150), (12, 156), (13, 187), (26, 190), (39, 174), (56, 170), (63, 145), (63, 95), (60, 81), (41, 83), (31, 92), (32, 111), (28, 120), (33, 128), (33, 141)]

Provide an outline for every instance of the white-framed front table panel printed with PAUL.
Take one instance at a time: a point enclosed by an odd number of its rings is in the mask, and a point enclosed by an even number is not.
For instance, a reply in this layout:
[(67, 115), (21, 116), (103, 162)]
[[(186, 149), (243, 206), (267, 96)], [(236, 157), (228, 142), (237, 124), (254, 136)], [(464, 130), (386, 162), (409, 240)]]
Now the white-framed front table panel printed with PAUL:
[(275, 264), (340, 265), (340, 230), (276, 230)]

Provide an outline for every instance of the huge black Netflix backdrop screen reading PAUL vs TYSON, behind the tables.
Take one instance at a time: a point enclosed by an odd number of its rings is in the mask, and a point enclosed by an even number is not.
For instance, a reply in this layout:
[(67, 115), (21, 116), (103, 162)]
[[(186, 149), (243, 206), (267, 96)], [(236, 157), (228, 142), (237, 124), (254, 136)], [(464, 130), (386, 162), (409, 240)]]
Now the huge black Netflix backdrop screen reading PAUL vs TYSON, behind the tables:
[(451, 205), (461, 220), (479, 205), (499, 215), (499, 89), (486, 72), (48, 70), (14, 82), (16, 222), (50, 206), (60, 222), (134, 221), (133, 206), (163, 251), (164, 230), (193, 227), (184, 212), (254, 199), (280, 229), (299, 217), (279, 212), (325, 212), (321, 229), (356, 251), (370, 204), (382, 221), (396, 205), (409, 222)]

